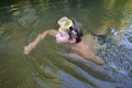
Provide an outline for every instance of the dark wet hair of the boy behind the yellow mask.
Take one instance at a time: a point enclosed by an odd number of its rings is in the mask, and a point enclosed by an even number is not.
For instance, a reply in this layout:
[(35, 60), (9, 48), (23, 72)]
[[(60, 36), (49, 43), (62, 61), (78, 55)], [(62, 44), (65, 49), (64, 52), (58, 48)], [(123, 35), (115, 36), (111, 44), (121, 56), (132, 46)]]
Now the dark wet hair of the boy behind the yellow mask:
[[(73, 23), (74, 23), (74, 26), (70, 26), (69, 28), (69, 38), (72, 40), (73, 37), (76, 37), (76, 43), (79, 43), (81, 41), (81, 37), (82, 37), (82, 24), (77, 21), (76, 19), (72, 19)], [(72, 33), (72, 31), (75, 31), (76, 32), (76, 36)]]

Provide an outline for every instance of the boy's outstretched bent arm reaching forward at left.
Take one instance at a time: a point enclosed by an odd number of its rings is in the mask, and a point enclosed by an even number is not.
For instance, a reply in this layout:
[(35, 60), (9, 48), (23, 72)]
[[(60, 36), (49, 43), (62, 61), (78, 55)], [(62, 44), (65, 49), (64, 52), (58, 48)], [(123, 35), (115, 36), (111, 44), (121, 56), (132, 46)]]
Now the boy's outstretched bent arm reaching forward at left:
[(36, 38), (31, 42), (29, 45), (24, 46), (24, 54), (29, 54), (40, 42), (42, 42), (47, 35), (55, 36), (57, 33), (56, 30), (47, 30), (42, 34), (38, 34)]

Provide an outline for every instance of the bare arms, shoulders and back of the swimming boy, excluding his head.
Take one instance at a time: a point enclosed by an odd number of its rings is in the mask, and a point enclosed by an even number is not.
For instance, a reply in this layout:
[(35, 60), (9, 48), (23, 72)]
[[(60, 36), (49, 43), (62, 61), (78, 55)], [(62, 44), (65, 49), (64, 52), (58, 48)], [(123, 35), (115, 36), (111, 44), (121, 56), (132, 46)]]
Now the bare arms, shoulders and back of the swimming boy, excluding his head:
[[(48, 30), (48, 31), (43, 32), (42, 34), (38, 34), (38, 36), (35, 38), (35, 41), (30, 43), (28, 46), (24, 46), (24, 54), (29, 54), (41, 41), (44, 40), (44, 37), (46, 35), (52, 35), (52, 36), (56, 37), (56, 42), (61, 44), (62, 43), (59, 41), (61, 38), (58, 40), (56, 36), (57, 33), (58, 32), (56, 30)], [(67, 40), (65, 40), (65, 41), (67, 41)], [(94, 53), (94, 45), (95, 45), (94, 36), (86, 35), (86, 36), (84, 36), (82, 41), (77, 44), (68, 43), (68, 42), (63, 43), (63, 44), (65, 44), (68, 48), (70, 48), (70, 52), (76, 53), (79, 56), (81, 56), (92, 63), (103, 65), (103, 61)]]

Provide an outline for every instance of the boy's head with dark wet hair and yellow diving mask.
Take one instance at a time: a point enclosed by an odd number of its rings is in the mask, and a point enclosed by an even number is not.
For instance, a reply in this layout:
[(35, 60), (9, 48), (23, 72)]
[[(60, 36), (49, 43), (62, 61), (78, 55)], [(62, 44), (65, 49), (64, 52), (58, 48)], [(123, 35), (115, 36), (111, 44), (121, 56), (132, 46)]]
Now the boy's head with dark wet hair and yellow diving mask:
[(56, 34), (56, 42), (58, 43), (79, 43), (82, 36), (82, 25), (77, 20), (69, 20), (64, 16), (58, 20), (59, 29)]

